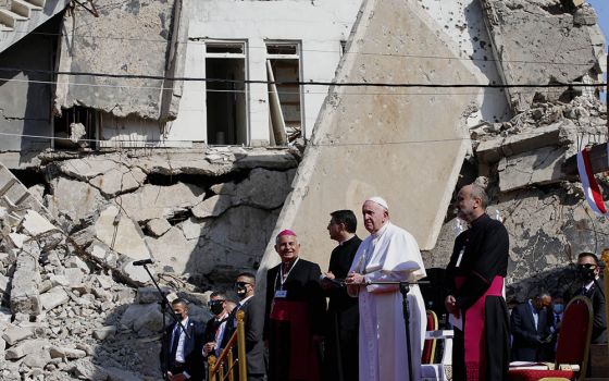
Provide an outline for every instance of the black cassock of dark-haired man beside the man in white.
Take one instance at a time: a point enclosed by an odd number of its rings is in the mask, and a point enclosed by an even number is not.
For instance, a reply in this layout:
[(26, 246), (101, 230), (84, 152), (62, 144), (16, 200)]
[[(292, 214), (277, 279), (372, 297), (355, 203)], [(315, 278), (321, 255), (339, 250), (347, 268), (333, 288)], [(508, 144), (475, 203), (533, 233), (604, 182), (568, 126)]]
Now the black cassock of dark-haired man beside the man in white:
[[(328, 270), (336, 281), (344, 281), (351, 268), (361, 239), (356, 235), (332, 250)], [(359, 372), (359, 305), (358, 298), (347, 294), (347, 287), (335, 284), (325, 292), (330, 297), (323, 379), (326, 381), (357, 381)]]

